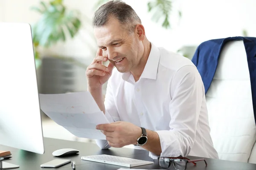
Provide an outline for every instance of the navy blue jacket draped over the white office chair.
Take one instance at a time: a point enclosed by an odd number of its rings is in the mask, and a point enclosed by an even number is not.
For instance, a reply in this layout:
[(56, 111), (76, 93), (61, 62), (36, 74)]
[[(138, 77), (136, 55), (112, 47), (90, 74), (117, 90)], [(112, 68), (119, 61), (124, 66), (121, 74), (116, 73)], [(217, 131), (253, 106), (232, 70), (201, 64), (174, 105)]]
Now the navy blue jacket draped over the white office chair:
[(256, 38), (255, 37), (228, 37), (209, 40), (201, 43), (192, 58), (192, 62), (198, 68), (204, 82), (205, 94), (207, 93), (216, 68), (221, 50), (229, 41), (243, 40), (247, 55), (250, 83), (253, 98), (253, 113), (256, 122)]

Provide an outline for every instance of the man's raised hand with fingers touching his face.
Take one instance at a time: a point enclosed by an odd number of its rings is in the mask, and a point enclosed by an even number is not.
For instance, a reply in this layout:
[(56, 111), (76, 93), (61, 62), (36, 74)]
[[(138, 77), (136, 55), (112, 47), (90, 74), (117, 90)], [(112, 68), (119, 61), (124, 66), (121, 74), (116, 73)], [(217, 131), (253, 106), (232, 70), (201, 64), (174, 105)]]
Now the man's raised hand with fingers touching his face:
[(108, 67), (106, 67), (105, 65), (102, 65), (103, 61), (108, 61), (108, 58), (102, 56), (102, 49), (99, 48), (96, 57), (86, 70), (87, 84), (89, 89), (101, 88), (111, 76), (114, 65), (110, 62)]

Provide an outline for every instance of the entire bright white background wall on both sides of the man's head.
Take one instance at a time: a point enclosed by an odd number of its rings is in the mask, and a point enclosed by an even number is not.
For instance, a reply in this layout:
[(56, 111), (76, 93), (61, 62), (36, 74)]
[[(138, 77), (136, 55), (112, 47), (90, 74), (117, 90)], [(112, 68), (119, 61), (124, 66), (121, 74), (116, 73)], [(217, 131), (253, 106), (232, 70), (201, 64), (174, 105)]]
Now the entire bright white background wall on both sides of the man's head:
[[(48, 0), (47, 0), (48, 1)], [(209, 39), (230, 36), (242, 36), (246, 29), (249, 36), (256, 37), (256, 1), (255, 0), (174, 0), (172, 29), (166, 30), (161, 23), (151, 21), (147, 12), (148, 0), (124, 0), (140, 16), (146, 35), (157, 46), (177, 51), (183, 45), (199, 45)], [(33, 23), (38, 14), (29, 10), (40, 0), (0, 0), (0, 21)], [(91, 0), (64, 0), (68, 8), (78, 9), (90, 18), (93, 16)], [(3, 7), (4, 4), (4, 7)], [(177, 22), (177, 8), (183, 17)], [(4, 10), (3, 10), (4, 9)], [(3, 13), (3, 14), (2, 14)], [(59, 43), (46, 53), (73, 57), (94, 57), (96, 42), (90, 22), (83, 20), (83, 28), (74, 40)], [(88, 45), (90, 44), (90, 46)]]

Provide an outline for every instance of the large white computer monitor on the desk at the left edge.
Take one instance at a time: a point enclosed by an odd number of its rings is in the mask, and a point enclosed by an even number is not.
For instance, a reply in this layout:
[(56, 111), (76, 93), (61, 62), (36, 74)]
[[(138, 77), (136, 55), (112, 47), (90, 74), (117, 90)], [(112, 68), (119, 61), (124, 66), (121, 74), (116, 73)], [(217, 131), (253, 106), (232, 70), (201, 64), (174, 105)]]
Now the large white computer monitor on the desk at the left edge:
[(0, 144), (44, 153), (31, 27), (0, 23)]

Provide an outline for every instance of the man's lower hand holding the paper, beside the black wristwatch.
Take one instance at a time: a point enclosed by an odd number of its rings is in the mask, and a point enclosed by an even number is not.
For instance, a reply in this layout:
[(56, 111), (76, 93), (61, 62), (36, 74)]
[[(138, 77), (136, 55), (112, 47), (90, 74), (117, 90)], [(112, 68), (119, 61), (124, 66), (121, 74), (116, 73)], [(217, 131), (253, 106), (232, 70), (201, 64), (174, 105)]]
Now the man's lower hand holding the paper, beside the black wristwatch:
[(96, 129), (101, 130), (106, 135), (108, 144), (111, 147), (123, 147), (129, 144), (137, 144), (137, 139), (141, 136), (140, 127), (129, 122), (114, 122), (111, 124), (97, 125)]

